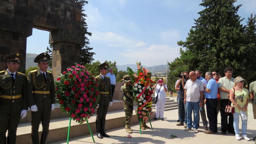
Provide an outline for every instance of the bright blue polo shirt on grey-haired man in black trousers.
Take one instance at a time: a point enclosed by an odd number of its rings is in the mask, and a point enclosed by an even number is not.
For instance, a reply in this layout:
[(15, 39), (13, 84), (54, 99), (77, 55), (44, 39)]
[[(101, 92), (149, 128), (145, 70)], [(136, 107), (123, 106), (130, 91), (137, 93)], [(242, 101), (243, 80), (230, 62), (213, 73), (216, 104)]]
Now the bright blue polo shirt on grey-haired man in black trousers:
[(218, 98), (218, 83), (214, 78), (211, 78), (206, 86), (207, 89), (211, 90), (210, 92), (204, 91), (204, 97), (206, 99), (217, 99)]

